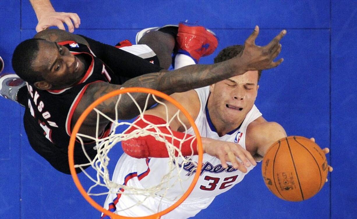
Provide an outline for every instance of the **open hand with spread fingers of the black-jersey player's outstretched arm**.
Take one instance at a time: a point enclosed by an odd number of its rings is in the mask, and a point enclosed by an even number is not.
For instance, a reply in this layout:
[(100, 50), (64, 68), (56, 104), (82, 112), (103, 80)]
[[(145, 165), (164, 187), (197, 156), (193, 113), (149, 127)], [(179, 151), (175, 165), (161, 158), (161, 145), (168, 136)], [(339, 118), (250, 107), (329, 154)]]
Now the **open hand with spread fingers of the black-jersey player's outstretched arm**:
[[(257, 46), (255, 39), (259, 34), (259, 27), (255, 26), (253, 33), (246, 39), (244, 49), (240, 55), (242, 64), (246, 66), (246, 70), (263, 70), (275, 68), (280, 65), (283, 58), (274, 62), (274, 59), (281, 51), (281, 38), (285, 36), (286, 30), (282, 30), (268, 45)], [(239, 56), (239, 55), (238, 55)]]

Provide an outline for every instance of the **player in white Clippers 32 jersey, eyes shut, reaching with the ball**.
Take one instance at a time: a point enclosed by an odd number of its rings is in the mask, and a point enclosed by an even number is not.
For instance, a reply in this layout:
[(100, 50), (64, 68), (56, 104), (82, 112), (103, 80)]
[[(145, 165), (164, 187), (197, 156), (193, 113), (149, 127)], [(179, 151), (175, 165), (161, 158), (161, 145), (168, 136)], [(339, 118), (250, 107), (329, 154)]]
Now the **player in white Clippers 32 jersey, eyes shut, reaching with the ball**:
[[(236, 56), (242, 49), (243, 47), (240, 45), (223, 49), (215, 58), (215, 63)], [(283, 127), (276, 122), (266, 121), (254, 105), (260, 75), (261, 71), (248, 71), (243, 75), (220, 81), (211, 86), (171, 95), (195, 120), (198, 131), (203, 137), (205, 154), (203, 154), (201, 175), (192, 193), (181, 205), (162, 218), (183, 219), (195, 216), (200, 210), (207, 208), (216, 195), (239, 183), (256, 165), (255, 161), (262, 160), (272, 143), (286, 137)], [(169, 109), (168, 118), (172, 118), (177, 108), (168, 101), (164, 102)], [(165, 106), (159, 105), (147, 110), (144, 118), (154, 124), (164, 124)], [(187, 128), (191, 126), (185, 116), (180, 118)], [(136, 123), (136, 125), (145, 127), (146, 123)], [(174, 119), (170, 123), (170, 128), (172, 131), (180, 131), (182, 124)], [(194, 134), (192, 127), (188, 129), (187, 133)], [(175, 132), (174, 135), (176, 135)], [(146, 150), (152, 150), (150, 147), (160, 148), (160, 143), (150, 137), (140, 138), (145, 140), (144, 145), (142, 145), (142, 141), (139, 143), (141, 145), (132, 144), (136, 139), (130, 140), (129, 144), (125, 142), (122, 144), (124, 151), (131, 156), (123, 154), (118, 161), (112, 179), (116, 183), (125, 182), (124, 184), (129, 186), (150, 188), (156, 185), (165, 173), (168, 158), (137, 159), (132, 157), (142, 157), (140, 154), (129, 152), (135, 147), (140, 149), (147, 147)], [(222, 153), (222, 147), (225, 148), (223, 151), (226, 153)], [(324, 150), (326, 153), (328, 152), (328, 149)], [(197, 162), (198, 156), (192, 156), (191, 159), (192, 162)], [(188, 182), (185, 180), (193, 178), (191, 171), (193, 167), (195, 167), (193, 164), (186, 164), (183, 167), (185, 171), (182, 171), (180, 175), (183, 179), (183, 186), (186, 188), (191, 180), (187, 180)], [(144, 197), (139, 195), (119, 196), (117, 194), (109, 195), (104, 207), (120, 212), (119, 214), (123, 216), (149, 215), (153, 213), (150, 209), (164, 210), (172, 205), (172, 200), (180, 194), (181, 188), (178, 187), (170, 188), (165, 198), (160, 196), (147, 198), (142, 204), (145, 207), (129, 208)], [(121, 211), (122, 209), (126, 210)]]

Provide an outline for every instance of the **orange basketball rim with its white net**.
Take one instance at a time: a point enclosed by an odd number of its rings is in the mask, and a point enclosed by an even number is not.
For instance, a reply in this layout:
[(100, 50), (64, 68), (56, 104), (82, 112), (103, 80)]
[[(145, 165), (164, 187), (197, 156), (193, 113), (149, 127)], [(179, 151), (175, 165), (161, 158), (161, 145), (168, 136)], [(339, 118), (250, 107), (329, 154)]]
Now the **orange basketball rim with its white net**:
[[(146, 93), (148, 94), (147, 95), (147, 99), (146, 99), (146, 103), (145, 103), (145, 106), (144, 106), (144, 109), (141, 109), (139, 104), (137, 104), (136, 100), (131, 96), (130, 93)], [(187, 190), (186, 190), (186, 187), (184, 186), (183, 190), (185, 190), (185, 192), (183, 193), (183, 195), (181, 196), (181, 198), (177, 198), (175, 199), (175, 202), (174, 204), (172, 204), (170, 207), (160, 211), (160, 212), (157, 212), (155, 214), (152, 214), (152, 215), (147, 215), (147, 216), (141, 216), (141, 217), (135, 217), (135, 218), (142, 218), (142, 219), (159, 219), (162, 215), (165, 215), (167, 213), (169, 213), (170, 211), (174, 210), (178, 205), (180, 205), (186, 198), (188, 195), (190, 195), (191, 191), (193, 190), (193, 188), (195, 187), (196, 183), (197, 183), (197, 180), (198, 180), (198, 177), (200, 176), (200, 173), (201, 173), (201, 168), (202, 168), (202, 156), (203, 156), (203, 149), (202, 149), (202, 142), (201, 142), (201, 137), (200, 137), (200, 134), (198, 132), (198, 129), (195, 125), (195, 121), (192, 119), (192, 117), (190, 116), (190, 114), (181, 106), (180, 103), (178, 103), (176, 100), (174, 100), (173, 98), (171, 98), (170, 96), (164, 94), (164, 93), (161, 93), (160, 91), (157, 91), (157, 90), (152, 90), (152, 89), (148, 89), (148, 88), (124, 88), (124, 89), (120, 89), (120, 90), (115, 90), (115, 91), (112, 91), (111, 93), (108, 93), (104, 96), (102, 96), (101, 98), (97, 99), (96, 101), (94, 101), (94, 103), (92, 103), (83, 113), (82, 115), (80, 116), (80, 118), (78, 119), (77, 123), (75, 124), (73, 130), (72, 130), (72, 134), (71, 134), (71, 139), (70, 139), (70, 144), (69, 144), (69, 148), (68, 148), (68, 156), (69, 156), (69, 166), (70, 166), (70, 171), (71, 171), (71, 175), (72, 175), (72, 178), (74, 180), (74, 183), (76, 184), (77, 186), (77, 189), (80, 191), (80, 193), (82, 194), (82, 196), (94, 207), (96, 208), (97, 210), (101, 211), (102, 213), (104, 213), (105, 215), (108, 215), (110, 216), (111, 218), (119, 218), (119, 219), (122, 219), (122, 218), (132, 218), (132, 217), (127, 217), (127, 216), (121, 216), (121, 215), (118, 215), (118, 214), (114, 214), (113, 212), (105, 209), (102, 207), (102, 205), (98, 204), (94, 199), (92, 199), (92, 197), (90, 195), (109, 195), (110, 193), (113, 192), (113, 190), (115, 190), (118, 194), (120, 193), (121, 195), (125, 195), (125, 193), (122, 193), (122, 191), (120, 191), (121, 188), (125, 188), (126, 191), (131, 191), (131, 195), (135, 195), (135, 194), (146, 194), (148, 193), (149, 196), (154, 196), (156, 195), (156, 193), (159, 191), (159, 190), (162, 190), (162, 189), (167, 189), (168, 188), (162, 188), (162, 186), (166, 185), (166, 186), (173, 186), (175, 184), (170, 184), (169, 181), (171, 182), (172, 181), (172, 178), (174, 177), (174, 173), (178, 172), (177, 173), (177, 177), (180, 178), (180, 175), (179, 175), (179, 172), (182, 170), (184, 164), (186, 164), (185, 162), (189, 162), (188, 160), (190, 160), (190, 156), (182, 156), (182, 154), (180, 153), (180, 148), (174, 148), (172, 149), (172, 145), (170, 144), (170, 142), (165, 142), (166, 144), (166, 147), (169, 150), (171, 150), (171, 153), (169, 153), (169, 155), (171, 154), (174, 154), (172, 157), (170, 157), (170, 165), (172, 164), (173, 166), (170, 167), (170, 171), (169, 173), (165, 173), (166, 175), (164, 175), (162, 177), (162, 181), (161, 181), (161, 184), (157, 187), (152, 187), (152, 188), (148, 188), (147, 190), (140, 190), (140, 189), (137, 189), (137, 188), (130, 188), (130, 186), (125, 186), (125, 185), (117, 185), (116, 183), (112, 182), (110, 180), (110, 175), (107, 173), (108, 170), (107, 170), (107, 163), (109, 163), (109, 157), (107, 157), (108, 153), (109, 153), (109, 150), (115, 146), (116, 143), (119, 143), (120, 141), (123, 141), (123, 140), (128, 140), (128, 139), (131, 139), (131, 138), (135, 138), (135, 136), (137, 136), (138, 133), (136, 134), (126, 134), (125, 131), (122, 132), (122, 133), (119, 133), (119, 134), (116, 134), (115, 133), (115, 130), (117, 127), (119, 127), (120, 125), (123, 125), (123, 124), (128, 124), (128, 122), (119, 122), (118, 121), (118, 118), (115, 118), (115, 120), (111, 120), (109, 118), (109, 116), (105, 116), (103, 113), (101, 113), (99, 110), (96, 109), (96, 106), (98, 106), (99, 104), (101, 104), (103, 101), (109, 99), (109, 98), (112, 98), (114, 96), (119, 96), (118, 100), (117, 100), (117, 103), (116, 103), (116, 117), (118, 116), (118, 113), (117, 113), (117, 106), (120, 104), (120, 100), (121, 100), (121, 97), (122, 95), (129, 95), (131, 100), (134, 101), (134, 103), (136, 104), (137, 108), (139, 109), (140, 111), (140, 117), (142, 118), (142, 116), (144, 115), (145, 113), (145, 110), (147, 108), (147, 103), (148, 103), (148, 100), (149, 98), (153, 98), (157, 104), (162, 104), (166, 107), (166, 105), (162, 102), (162, 101), (159, 101), (157, 100), (156, 97), (159, 97), (159, 98), (162, 98), (162, 99), (165, 99), (166, 101), (169, 101), (170, 103), (172, 103), (173, 105), (176, 106), (176, 108), (178, 109), (177, 113), (172, 116), (172, 118), (174, 117), (177, 117), (177, 119), (181, 122), (180, 118), (179, 118), (179, 114), (182, 113), (184, 116), (186, 116), (186, 118), (188, 119), (191, 127), (193, 128), (194, 132), (195, 132), (195, 135), (196, 136), (191, 136), (190, 138), (187, 138), (187, 139), (183, 139), (183, 140), (188, 140), (188, 139), (193, 139), (194, 137), (196, 137), (196, 140), (197, 140), (197, 145), (198, 145), (198, 162), (196, 165), (195, 168), (193, 168), (193, 172), (192, 172), (192, 176), (193, 176), (193, 179), (191, 181), (191, 184), (189, 184)], [(83, 135), (83, 134), (80, 134), (78, 133), (83, 121), (86, 119), (87, 115), (89, 113), (92, 112), (92, 110), (96, 111), (97, 112), (97, 120), (99, 121), (99, 116), (101, 116), (101, 118), (107, 118), (110, 122), (112, 122), (112, 133), (110, 134), (109, 137), (106, 137), (104, 139), (100, 139), (98, 138), (98, 136), (100, 136), (100, 134), (96, 133), (96, 138), (92, 137), (92, 136), (86, 136), (86, 135)], [(128, 109), (128, 110), (132, 110), (132, 109)], [(167, 107), (166, 107), (166, 110), (167, 110)], [(170, 124), (170, 121), (172, 120), (172, 118), (166, 118), (167, 120), (167, 124), (165, 124), (167, 127), (169, 126)], [(181, 122), (182, 123), (182, 122)], [(135, 122), (133, 123), (129, 123), (130, 127), (132, 126), (135, 126)], [(154, 127), (155, 128), (155, 125), (153, 124), (150, 124), (151, 126), (150, 127)], [(113, 128), (114, 126), (114, 128)], [(97, 124), (97, 127), (98, 127), (98, 124)], [(130, 128), (129, 127), (129, 128)], [(184, 125), (185, 127), (185, 130), (187, 132), (187, 128), (186, 126)], [(98, 130), (98, 128), (97, 128)], [(162, 137), (162, 133), (153, 133), (152, 131), (147, 131), (145, 129), (141, 129), (142, 133), (140, 133), (141, 135), (152, 135), (152, 136), (155, 136), (156, 139), (158, 139), (159, 141), (162, 141), (164, 142), (164, 140), (160, 140), (160, 138)], [(160, 132), (160, 131), (158, 131)], [(186, 136), (186, 135), (185, 135)], [(82, 144), (82, 149), (84, 150), (84, 141), (82, 140), (82, 137), (85, 137), (85, 138), (90, 138), (90, 139), (93, 139), (95, 140), (97, 146), (97, 155), (96, 157), (91, 160), (89, 159), (89, 163), (88, 164), (75, 164), (74, 163), (74, 146), (75, 146), (75, 142), (76, 141), (79, 141), (81, 142)], [(172, 136), (172, 139), (174, 139), (174, 136)], [(177, 139), (176, 139), (177, 140)], [(183, 141), (182, 140), (182, 141)], [(192, 149), (192, 145), (191, 145), (191, 149)], [(176, 156), (175, 156), (175, 150), (178, 150), (176, 151)], [(174, 151), (172, 153), (172, 151)], [(178, 155), (177, 155), (177, 152), (178, 152)], [(84, 150), (84, 153), (86, 154), (85, 150)], [(86, 154), (87, 155), (87, 154)], [(193, 153), (192, 155), (193, 156)], [(87, 155), (87, 158), (89, 158), (89, 156)], [(117, 160), (115, 158), (111, 158), (113, 160)], [(119, 157), (118, 157), (119, 159)], [(160, 159), (160, 158), (157, 158), (157, 159)], [(164, 158), (166, 159), (166, 158)], [(180, 159), (181, 161), (181, 166), (178, 165), (178, 160), (177, 159)], [(172, 162), (173, 161), (173, 162)], [(192, 163), (192, 162), (191, 162)], [(191, 164), (190, 163), (190, 164)], [(176, 165), (176, 166), (175, 166)], [(97, 171), (97, 174), (96, 176), (92, 177), (90, 176), (87, 171), (85, 171), (83, 168), (83, 166), (91, 166), (93, 169), (95, 169)], [(84, 172), (84, 174), (91, 180), (93, 181), (95, 184), (93, 186), (91, 186), (89, 189), (85, 190), (84, 187), (82, 186), (78, 176), (77, 176), (77, 173), (75, 171), (75, 168), (81, 168), (82, 171)], [(181, 168), (181, 170), (180, 170)], [(97, 179), (98, 178), (98, 179)], [(164, 179), (164, 178), (167, 178), (167, 179)], [(165, 181), (166, 180), (166, 181)], [(102, 182), (103, 181), (103, 182)], [(176, 179), (175, 183), (177, 182), (180, 182), (181, 183), (182, 179)], [(162, 183), (164, 182), (164, 183)], [(177, 185), (177, 184), (176, 184)], [(188, 183), (187, 183), (188, 185)], [(103, 187), (106, 187), (108, 189), (107, 192), (105, 193), (99, 193), (99, 194), (93, 194), (91, 192), (92, 188), (94, 188), (95, 186), (103, 186)], [(120, 188), (120, 189), (119, 189)], [(124, 189), (123, 189), (124, 190)], [(162, 196), (160, 196), (162, 197)], [(165, 198), (165, 196), (163, 197)], [(140, 203), (138, 203), (138, 205), (140, 205)]]

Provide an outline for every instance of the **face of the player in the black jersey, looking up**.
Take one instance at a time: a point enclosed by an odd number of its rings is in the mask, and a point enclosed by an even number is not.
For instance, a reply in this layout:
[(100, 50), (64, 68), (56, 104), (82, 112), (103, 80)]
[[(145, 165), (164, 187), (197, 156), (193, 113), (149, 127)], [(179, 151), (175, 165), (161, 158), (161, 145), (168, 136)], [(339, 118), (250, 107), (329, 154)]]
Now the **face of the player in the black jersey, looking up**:
[(32, 68), (41, 72), (50, 89), (68, 88), (84, 74), (84, 63), (65, 47), (50, 41), (39, 41), (39, 52)]

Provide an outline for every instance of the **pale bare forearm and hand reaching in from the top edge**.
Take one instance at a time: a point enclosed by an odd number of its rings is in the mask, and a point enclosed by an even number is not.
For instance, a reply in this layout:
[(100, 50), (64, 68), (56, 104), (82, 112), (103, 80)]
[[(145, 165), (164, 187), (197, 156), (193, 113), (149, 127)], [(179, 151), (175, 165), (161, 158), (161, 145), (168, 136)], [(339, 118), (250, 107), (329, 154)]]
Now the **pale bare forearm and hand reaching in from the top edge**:
[(30, 3), (35, 10), (37, 20), (39, 21), (36, 26), (37, 32), (45, 30), (51, 26), (57, 26), (57, 28), (61, 30), (66, 30), (63, 25), (63, 23), (66, 23), (68, 31), (73, 33), (74, 26), (79, 28), (79, 25), (81, 24), (81, 19), (76, 13), (56, 12), (51, 5), (50, 0), (30, 0)]

